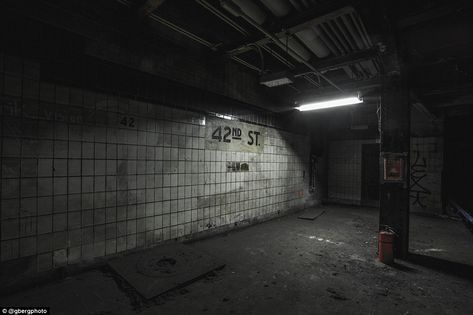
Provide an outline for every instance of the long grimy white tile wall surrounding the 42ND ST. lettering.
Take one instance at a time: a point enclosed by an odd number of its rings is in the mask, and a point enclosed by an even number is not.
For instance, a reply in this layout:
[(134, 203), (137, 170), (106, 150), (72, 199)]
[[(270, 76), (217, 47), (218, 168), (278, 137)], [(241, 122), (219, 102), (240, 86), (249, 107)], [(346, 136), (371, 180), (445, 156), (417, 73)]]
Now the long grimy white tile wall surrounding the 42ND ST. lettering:
[(203, 114), (0, 64), (1, 262), (44, 271), (303, 204), (305, 136), (265, 127), (261, 154), (206, 150)]

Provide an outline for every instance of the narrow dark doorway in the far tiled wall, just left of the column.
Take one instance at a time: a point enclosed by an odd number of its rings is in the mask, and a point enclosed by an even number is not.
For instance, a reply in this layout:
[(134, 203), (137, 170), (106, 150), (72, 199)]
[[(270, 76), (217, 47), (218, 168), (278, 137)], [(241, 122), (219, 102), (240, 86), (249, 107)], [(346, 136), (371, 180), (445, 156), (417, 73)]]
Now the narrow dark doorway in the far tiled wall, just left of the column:
[(361, 203), (379, 205), (379, 144), (363, 144), (361, 151)]

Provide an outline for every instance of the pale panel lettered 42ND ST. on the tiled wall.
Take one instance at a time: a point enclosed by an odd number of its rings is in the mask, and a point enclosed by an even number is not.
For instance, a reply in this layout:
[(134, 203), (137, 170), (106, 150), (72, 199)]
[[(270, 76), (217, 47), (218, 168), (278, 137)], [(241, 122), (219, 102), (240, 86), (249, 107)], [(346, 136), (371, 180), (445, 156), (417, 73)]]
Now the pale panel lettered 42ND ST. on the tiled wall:
[(266, 130), (238, 121), (209, 119), (205, 148), (210, 150), (263, 152)]

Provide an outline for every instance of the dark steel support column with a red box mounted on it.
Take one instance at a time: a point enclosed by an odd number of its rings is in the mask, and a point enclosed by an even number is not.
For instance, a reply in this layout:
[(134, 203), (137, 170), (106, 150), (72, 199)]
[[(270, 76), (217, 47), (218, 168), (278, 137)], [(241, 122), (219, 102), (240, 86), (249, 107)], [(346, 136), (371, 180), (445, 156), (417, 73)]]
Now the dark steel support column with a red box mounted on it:
[[(397, 56), (389, 56), (397, 62)], [(388, 62), (389, 64), (389, 62)], [(393, 64), (391, 64), (393, 65)], [(380, 110), (380, 229), (389, 227), (396, 234), (395, 256), (407, 256), (409, 249), (409, 151), (410, 106), (409, 94), (400, 67), (388, 74), (383, 82)], [(385, 159), (397, 157), (402, 161), (400, 179), (386, 180)], [(390, 169), (387, 169), (390, 172)]]

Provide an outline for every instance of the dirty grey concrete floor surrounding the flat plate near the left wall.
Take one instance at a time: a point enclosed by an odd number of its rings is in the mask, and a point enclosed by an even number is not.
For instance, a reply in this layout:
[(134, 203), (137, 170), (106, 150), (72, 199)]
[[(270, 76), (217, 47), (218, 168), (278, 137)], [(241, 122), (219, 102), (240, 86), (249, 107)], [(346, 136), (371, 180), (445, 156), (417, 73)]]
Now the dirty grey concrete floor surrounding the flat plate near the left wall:
[(325, 209), (315, 221), (293, 214), (192, 243), (226, 267), (151, 301), (104, 267), (2, 297), (0, 306), (48, 305), (53, 314), (471, 314), (473, 236), (461, 222), (413, 216), (421, 265), (386, 266), (375, 259), (376, 209)]

